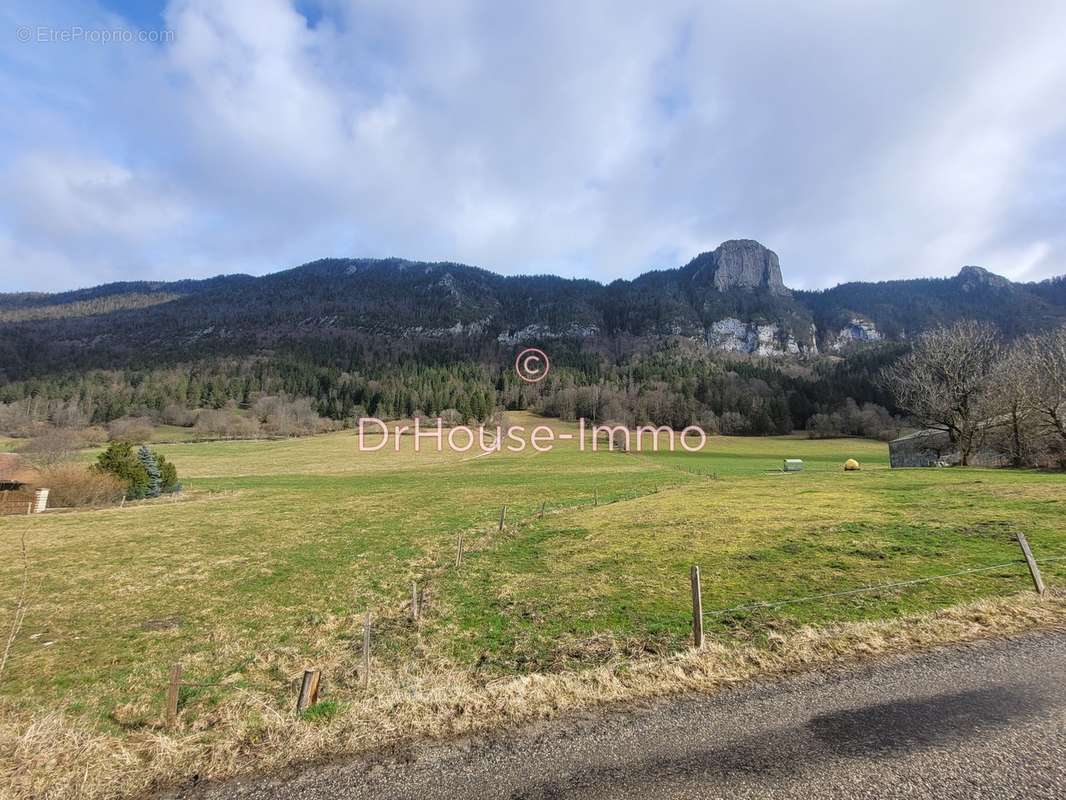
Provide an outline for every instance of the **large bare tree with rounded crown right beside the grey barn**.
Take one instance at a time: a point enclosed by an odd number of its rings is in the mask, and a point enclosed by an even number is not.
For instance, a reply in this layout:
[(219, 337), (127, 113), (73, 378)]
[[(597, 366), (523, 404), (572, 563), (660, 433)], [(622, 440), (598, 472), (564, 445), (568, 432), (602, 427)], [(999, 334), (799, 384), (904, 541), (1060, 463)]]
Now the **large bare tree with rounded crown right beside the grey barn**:
[(926, 428), (947, 431), (964, 466), (996, 423), (992, 375), (1002, 349), (992, 325), (957, 322), (922, 334), (884, 372), (903, 409)]

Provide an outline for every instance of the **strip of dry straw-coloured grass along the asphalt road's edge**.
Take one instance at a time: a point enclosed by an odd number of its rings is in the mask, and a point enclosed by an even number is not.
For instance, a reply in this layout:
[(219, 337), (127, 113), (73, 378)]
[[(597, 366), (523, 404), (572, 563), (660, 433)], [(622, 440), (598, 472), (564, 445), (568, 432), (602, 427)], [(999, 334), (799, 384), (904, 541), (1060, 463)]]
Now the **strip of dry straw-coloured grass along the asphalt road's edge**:
[[(194, 730), (177, 736), (157, 726), (123, 738), (62, 714), (30, 717), (4, 709), (0, 797), (85, 800), (136, 797), (196, 774), (221, 780), (251, 770), (379, 750), (418, 738), (442, 738), (516, 725), (608, 703), (683, 691), (713, 691), (757, 677), (844, 663), (1034, 628), (1061, 628), (1066, 593), (984, 601), (884, 622), (804, 627), (772, 635), (770, 646), (712, 643), (662, 658), (617, 660), (582, 672), (480, 683), (470, 672), (384, 675), (369, 697), (335, 716), (297, 720), (269, 698), (245, 692), (216, 709), (227, 736)], [(416, 678), (411, 682), (411, 678)], [(403, 691), (388, 691), (399, 682)]]

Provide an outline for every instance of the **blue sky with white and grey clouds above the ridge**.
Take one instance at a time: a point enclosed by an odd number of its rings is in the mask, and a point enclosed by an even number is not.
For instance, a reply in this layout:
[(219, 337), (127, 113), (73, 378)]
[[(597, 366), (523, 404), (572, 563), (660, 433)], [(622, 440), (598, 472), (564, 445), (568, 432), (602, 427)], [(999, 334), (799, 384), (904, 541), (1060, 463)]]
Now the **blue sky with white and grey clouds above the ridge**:
[[(0, 10), (0, 291), (399, 256), (1066, 273), (1066, 3)], [(111, 38), (108, 39), (110, 34)]]

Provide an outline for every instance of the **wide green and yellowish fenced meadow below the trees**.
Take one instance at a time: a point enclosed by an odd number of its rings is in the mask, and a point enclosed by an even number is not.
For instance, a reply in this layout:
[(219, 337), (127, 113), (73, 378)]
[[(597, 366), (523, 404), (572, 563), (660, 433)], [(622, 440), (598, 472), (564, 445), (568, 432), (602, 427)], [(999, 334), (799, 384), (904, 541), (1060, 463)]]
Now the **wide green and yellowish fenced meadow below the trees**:
[[(891, 470), (887, 446), (863, 439), (714, 436), (698, 453), (559, 443), (474, 458), (415, 453), (408, 437), (359, 452), (338, 432), (159, 448), (180, 470), (178, 498), (0, 518), (5, 629), (23, 569), (30, 587), (0, 676), (0, 758), (44, 717), (112, 743), (185, 737), (209, 752), (237, 737), (254, 752), (264, 720), (293, 717), (308, 667), (323, 670), (323, 703), (301, 723), (313, 725), (448, 676), (489, 686), (667, 657), (689, 644), (692, 564), (709, 640), (771, 649), (810, 625), (1025, 592), (1019, 531), (1038, 558), (1066, 556), (1066, 476)], [(784, 458), (807, 468), (782, 474)], [(844, 473), (847, 458), (861, 470)], [(924, 580), (968, 570), (980, 571)], [(1061, 587), (1066, 559), (1044, 573)], [(899, 581), (919, 582), (772, 605)], [(172, 662), (189, 686), (164, 732)], [(20, 785), (38, 785), (31, 769)]]

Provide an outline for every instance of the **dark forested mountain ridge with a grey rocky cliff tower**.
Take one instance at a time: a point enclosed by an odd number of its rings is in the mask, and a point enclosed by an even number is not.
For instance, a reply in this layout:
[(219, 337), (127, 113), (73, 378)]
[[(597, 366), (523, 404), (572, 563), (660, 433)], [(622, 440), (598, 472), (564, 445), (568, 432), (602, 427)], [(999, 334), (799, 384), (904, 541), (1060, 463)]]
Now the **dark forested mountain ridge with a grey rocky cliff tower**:
[(505, 348), (680, 336), (724, 352), (807, 357), (906, 340), (960, 318), (995, 322), (1008, 336), (1062, 324), (1066, 278), (1013, 283), (967, 266), (946, 278), (789, 289), (777, 254), (749, 239), (608, 284), (450, 261), (326, 258), (258, 277), (0, 294), (0, 378), (37, 371), (28, 365), (42, 358), (120, 365), (183, 350), (245, 354), (308, 338), (459, 337)]

